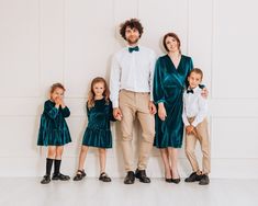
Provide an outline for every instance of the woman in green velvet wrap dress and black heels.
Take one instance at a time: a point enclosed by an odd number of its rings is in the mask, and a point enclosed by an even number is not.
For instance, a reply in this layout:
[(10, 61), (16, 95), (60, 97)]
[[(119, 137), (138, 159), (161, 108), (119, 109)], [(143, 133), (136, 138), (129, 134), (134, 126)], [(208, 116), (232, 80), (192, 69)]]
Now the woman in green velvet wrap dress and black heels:
[(181, 54), (180, 39), (175, 33), (166, 34), (162, 43), (168, 54), (158, 58), (154, 75), (154, 101), (158, 104), (154, 145), (160, 148), (166, 182), (178, 184), (178, 148), (183, 137), (182, 94), (193, 64), (191, 57)]

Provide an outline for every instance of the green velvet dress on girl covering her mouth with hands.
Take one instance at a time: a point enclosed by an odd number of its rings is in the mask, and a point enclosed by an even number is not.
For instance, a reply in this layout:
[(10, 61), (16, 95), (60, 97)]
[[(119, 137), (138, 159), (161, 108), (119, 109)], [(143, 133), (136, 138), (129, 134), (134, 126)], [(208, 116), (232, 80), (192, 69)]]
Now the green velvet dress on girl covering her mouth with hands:
[(64, 146), (71, 141), (70, 133), (65, 121), (70, 116), (70, 111), (66, 106), (55, 107), (55, 103), (47, 100), (41, 116), (41, 126), (37, 138), (38, 146)]

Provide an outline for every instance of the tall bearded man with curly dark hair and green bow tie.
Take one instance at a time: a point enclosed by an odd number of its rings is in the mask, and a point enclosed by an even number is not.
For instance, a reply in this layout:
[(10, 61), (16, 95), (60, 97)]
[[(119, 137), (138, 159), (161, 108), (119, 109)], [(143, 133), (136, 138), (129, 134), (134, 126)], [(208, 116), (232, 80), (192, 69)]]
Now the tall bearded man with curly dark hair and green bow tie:
[[(127, 47), (122, 48), (113, 57), (110, 89), (113, 115), (121, 119), (122, 150), (127, 172), (124, 183), (133, 184), (135, 178), (143, 183), (150, 183), (146, 168), (155, 136), (153, 76), (156, 55), (152, 49), (138, 45), (143, 26), (137, 19), (125, 21), (121, 25), (120, 34), (127, 42)], [(141, 123), (143, 138), (134, 173), (132, 140), (135, 118)]]

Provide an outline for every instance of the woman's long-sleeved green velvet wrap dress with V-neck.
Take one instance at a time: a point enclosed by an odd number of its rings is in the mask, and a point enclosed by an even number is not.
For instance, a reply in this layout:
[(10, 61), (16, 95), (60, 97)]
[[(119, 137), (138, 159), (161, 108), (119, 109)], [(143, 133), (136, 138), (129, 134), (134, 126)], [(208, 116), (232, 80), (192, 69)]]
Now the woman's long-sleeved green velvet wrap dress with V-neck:
[(183, 137), (182, 94), (187, 77), (193, 68), (192, 59), (181, 56), (178, 68), (168, 55), (159, 57), (154, 75), (154, 101), (164, 102), (167, 117), (162, 122), (155, 115), (155, 140), (157, 148), (181, 148)]

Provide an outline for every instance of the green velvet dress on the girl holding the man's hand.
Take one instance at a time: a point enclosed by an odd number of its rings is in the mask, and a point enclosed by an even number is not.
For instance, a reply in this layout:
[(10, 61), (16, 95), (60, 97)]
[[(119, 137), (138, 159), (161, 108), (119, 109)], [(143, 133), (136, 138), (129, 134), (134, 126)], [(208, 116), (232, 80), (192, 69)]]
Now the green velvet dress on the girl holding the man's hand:
[(87, 105), (88, 126), (86, 128), (82, 145), (99, 148), (112, 148), (112, 135), (110, 121), (113, 117), (112, 102), (105, 99), (96, 100), (94, 106), (89, 108)]

